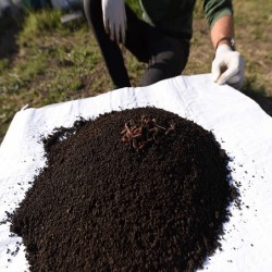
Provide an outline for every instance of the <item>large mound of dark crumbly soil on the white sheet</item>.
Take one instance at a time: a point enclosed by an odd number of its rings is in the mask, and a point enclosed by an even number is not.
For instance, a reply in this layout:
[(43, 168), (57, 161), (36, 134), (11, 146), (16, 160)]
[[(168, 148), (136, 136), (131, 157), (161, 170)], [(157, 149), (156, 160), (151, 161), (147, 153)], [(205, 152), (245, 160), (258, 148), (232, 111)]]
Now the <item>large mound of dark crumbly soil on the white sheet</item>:
[(194, 122), (124, 110), (44, 143), (47, 168), (11, 225), (30, 271), (194, 271), (220, 246), (227, 158)]

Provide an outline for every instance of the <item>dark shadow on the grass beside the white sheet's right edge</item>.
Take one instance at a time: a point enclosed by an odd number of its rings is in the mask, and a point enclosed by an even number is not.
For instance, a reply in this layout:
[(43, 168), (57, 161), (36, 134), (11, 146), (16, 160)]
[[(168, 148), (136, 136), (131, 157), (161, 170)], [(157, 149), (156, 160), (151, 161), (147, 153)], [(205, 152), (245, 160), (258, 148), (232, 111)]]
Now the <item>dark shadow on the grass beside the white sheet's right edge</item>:
[(247, 79), (242, 92), (255, 100), (261, 109), (272, 116), (272, 97), (267, 96), (265, 87), (256, 87), (255, 79)]

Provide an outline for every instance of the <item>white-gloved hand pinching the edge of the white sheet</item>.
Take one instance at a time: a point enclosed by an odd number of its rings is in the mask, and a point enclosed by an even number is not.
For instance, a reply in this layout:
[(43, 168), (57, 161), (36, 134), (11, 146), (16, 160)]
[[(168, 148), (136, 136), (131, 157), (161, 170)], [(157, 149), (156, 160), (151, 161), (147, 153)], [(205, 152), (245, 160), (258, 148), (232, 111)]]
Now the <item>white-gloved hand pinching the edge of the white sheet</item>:
[(239, 52), (233, 51), (227, 45), (218, 47), (212, 62), (213, 82), (219, 85), (228, 84), (236, 89), (243, 87), (245, 62)]

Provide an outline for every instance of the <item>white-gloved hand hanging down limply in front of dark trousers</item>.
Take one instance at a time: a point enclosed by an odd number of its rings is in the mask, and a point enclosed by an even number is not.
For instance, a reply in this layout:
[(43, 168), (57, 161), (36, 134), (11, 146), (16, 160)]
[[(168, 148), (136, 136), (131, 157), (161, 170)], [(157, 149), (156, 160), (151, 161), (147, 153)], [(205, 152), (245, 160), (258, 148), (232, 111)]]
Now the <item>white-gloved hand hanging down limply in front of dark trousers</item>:
[(124, 0), (102, 0), (103, 25), (111, 40), (125, 42), (126, 13)]

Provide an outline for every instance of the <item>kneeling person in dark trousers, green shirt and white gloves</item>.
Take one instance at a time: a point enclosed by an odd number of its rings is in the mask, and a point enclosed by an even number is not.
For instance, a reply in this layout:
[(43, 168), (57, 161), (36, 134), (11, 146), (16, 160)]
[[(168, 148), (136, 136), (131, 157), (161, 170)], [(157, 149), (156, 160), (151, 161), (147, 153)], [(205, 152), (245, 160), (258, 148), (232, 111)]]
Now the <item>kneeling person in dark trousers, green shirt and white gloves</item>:
[[(120, 44), (147, 63), (140, 86), (181, 75), (189, 55), (196, 0), (139, 0), (143, 18), (124, 0), (84, 0), (84, 12), (116, 88), (129, 87)], [(231, 0), (203, 0), (214, 59), (212, 79), (240, 89), (244, 59), (234, 48)]]

